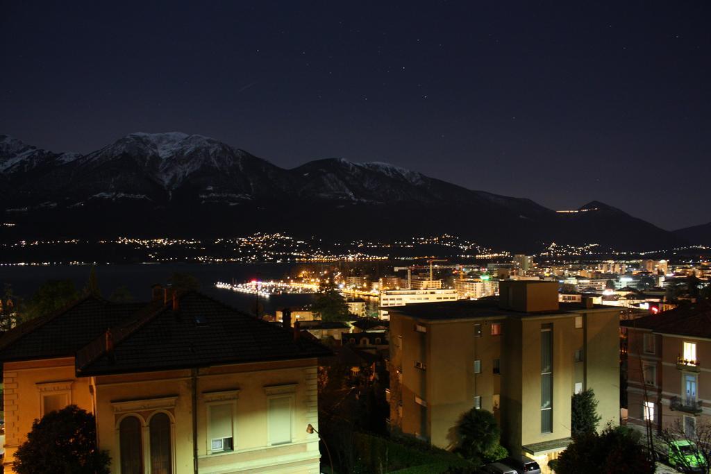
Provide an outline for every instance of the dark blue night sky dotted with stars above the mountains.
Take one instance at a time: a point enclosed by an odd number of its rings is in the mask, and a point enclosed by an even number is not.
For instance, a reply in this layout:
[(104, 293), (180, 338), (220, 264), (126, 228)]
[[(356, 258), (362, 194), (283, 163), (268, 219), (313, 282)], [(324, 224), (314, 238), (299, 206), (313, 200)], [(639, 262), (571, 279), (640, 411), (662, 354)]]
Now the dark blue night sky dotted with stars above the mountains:
[(711, 221), (708, 1), (0, 1), (0, 133), (213, 136)]

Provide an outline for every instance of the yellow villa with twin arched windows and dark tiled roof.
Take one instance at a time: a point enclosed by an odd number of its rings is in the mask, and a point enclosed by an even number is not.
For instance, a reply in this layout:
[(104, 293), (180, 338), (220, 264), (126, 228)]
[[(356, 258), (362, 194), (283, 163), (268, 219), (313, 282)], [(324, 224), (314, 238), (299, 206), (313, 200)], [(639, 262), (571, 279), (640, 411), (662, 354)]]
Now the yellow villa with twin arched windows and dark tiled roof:
[[(194, 291), (87, 296), (0, 338), (5, 457), (33, 420), (95, 415), (111, 472), (319, 473), (318, 357), (331, 351)], [(107, 328), (109, 328), (107, 330)]]

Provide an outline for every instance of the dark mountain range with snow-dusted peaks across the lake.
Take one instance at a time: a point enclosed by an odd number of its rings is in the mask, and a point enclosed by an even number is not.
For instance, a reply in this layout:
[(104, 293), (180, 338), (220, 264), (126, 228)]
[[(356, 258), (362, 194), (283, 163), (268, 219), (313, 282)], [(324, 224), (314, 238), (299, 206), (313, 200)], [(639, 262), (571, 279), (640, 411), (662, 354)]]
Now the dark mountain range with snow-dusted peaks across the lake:
[(680, 235), (602, 203), (555, 212), (387, 163), (324, 159), (283, 169), (215, 139), (130, 134), (82, 155), (0, 135), (6, 237), (296, 237), (385, 239), (447, 232), (494, 248), (544, 242), (666, 249)]

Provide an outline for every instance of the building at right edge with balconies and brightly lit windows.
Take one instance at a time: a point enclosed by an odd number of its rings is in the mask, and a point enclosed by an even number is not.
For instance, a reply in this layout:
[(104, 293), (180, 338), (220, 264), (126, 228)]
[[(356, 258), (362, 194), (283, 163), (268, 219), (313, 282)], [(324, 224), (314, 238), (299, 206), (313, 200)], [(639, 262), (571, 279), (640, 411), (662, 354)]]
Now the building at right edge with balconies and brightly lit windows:
[(693, 437), (711, 423), (711, 304), (705, 300), (622, 321), (627, 332), (628, 425)]

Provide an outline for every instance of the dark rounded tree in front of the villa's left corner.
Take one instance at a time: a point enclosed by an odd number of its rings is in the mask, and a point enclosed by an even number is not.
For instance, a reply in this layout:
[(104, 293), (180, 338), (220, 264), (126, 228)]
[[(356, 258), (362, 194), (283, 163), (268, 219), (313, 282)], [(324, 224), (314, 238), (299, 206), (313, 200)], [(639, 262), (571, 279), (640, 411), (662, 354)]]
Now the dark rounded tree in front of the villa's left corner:
[(109, 454), (96, 446), (94, 415), (66, 406), (35, 420), (15, 453), (18, 474), (109, 474)]

